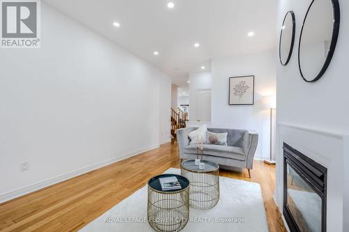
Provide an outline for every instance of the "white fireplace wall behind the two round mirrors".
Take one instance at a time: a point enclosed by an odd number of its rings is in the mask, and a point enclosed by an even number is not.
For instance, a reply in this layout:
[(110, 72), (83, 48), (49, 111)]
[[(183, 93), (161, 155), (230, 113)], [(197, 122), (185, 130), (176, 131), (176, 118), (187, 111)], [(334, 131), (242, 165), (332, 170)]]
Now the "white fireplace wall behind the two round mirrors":
[[(301, 32), (301, 22), (304, 20), (306, 10), (311, 3), (308, 1), (279, 1), (279, 15), (277, 24), (277, 37), (279, 41), (279, 33), (281, 23), (285, 13), (288, 10), (295, 11), (296, 17), (296, 34), (295, 47), (287, 66), (277, 65), (277, 99), (278, 99), (278, 116), (277, 122), (280, 125), (294, 125), (300, 128), (311, 128), (311, 130), (320, 131), (320, 134), (341, 134), (339, 138), (349, 134), (349, 107), (348, 107), (348, 54), (349, 54), (349, 1), (339, 0), (341, 7), (341, 26), (339, 31), (339, 39), (336, 50), (329, 64), (329, 68), (317, 82), (306, 83), (301, 78), (297, 63), (297, 45), (299, 43), (299, 35)], [(279, 46), (276, 44), (276, 46)], [(296, 134), (290, 134), (289, 137), (295, 137)], [(278, 135), (278, 140), (282, 141), (283, 137)], [(331, 198), (328, 201), (331, 208), (327, 209), (327, 217), (331, 222), (327, 225), (327, 231), (349, 231), (348, 215), (349, 215), (349, 194), (348, 194), (348, 139), (341, 139), (339, 144), (344, 144), (344, 148), (332, 148), (329, 142), (320, 142), (316, 137), (307, 137), (308, 144), (317, 144), (321, 148), (325, 143), (327, 153), (320, 153), (317, 150), (316, 157), (320, 164), (329, 168), (328, 179), (329, 191)], [(297, 144), (296, 144), (297, 145)], [(303, 142), (304, 147), (307, 145)], [(311, 150), (311, 148), (307, 148)], [(313, 148), (315, 149), (315, 148)], [(320, 150), (320, 149), (319, 149)], [(336, 151), (339, 150), (339, 151)], [(315, 153), (315, 152), (314, 152)], [(306, 154), (308, 155), (308, 153)], [(282, 197), (282, 150), (279, 149), (279, 159), (277, 159), (277, 186), (281, 188), (276, 192), (281, 206)], [(328, 157), (327, 162), (323, 162), (324, 157)], [(344, 186), (344, 192), (343, 192)], [(335, 210), (333, 203), (340, 203), (342, 207)], [(343, 214), (342, 214), (343, 213)], [(344, 215), (344, 216), (343, 216)], [(344, 222), (341, 221), (344, 218)], [(340, 223), (339, 223), (340, 222)], [(343, 224), (343, 225), (342, 225)], [(343, 226), (343, 227), (342, 227)]]

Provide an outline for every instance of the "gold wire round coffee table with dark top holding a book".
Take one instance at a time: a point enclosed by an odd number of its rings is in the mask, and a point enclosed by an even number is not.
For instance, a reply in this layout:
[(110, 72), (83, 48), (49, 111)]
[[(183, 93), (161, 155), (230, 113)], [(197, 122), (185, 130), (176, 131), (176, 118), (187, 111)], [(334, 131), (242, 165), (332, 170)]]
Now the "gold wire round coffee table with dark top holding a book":
[[(159, 178), (175, 176), (181, 190), (161, 189)], [(175, 174), (154, 176), (148, 182), (148, 222), (155, 231), (181, 231), (189, 219), (189, 180)]]

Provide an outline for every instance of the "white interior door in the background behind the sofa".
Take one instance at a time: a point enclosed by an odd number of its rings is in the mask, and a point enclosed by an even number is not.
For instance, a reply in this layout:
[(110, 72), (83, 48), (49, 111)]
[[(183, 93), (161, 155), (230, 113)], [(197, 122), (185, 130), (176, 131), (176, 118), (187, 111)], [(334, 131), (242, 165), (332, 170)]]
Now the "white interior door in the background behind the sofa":
[(198, 109), (196, 121), (211, 122), (211, 89), (197, 90)]

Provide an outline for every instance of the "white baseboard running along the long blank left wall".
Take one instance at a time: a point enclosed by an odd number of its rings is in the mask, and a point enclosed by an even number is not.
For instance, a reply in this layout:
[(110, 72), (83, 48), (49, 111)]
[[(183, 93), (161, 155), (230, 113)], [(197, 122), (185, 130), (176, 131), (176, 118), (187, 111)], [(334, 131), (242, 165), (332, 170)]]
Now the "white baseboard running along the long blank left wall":
[(105, 166), (107, 166), (109, 164), (112, 164), (114, 162), (118, 162), (120, 160), (124, 160), (124, 159), (126, 159), (128, 157), (139, 155), (140, 153), (144, 153), (144, 152), (146, 152), (148, 150), (153, 150), (155, 148), (158, 148), (159, 145), (160, 144), (147, 146), (147, 147), (142, 148), (140, 150), (135, 150), (135, 151), (133, 151), (131, 153), (126, 153), (124, 155), (120, 155), (118, 157), (114, 157), (111, 160), (105, 160), (103, 162), (98, 162), (96, 164), (92, 164), (92, 165), (89, 165), (87, 167), (83, 167), (81, 169), (77, 169), (75, 171), (70, 171), (68, 173), (56, 176), (54, 178), (49, 178), (47, 180), (42, 180), (42, 181), (40, 181), (38, 183), (35, 183), (33, 185), (28, 185), (27, 187), (22, 187), (22, 188), (20, 188), (18, 190), (13, 190), (13, 191), (10, 191), (10, 192), (6, 192), (6, 193), (0, 195), (0, 203), (6, 202), (6, 201), (10, 201), (12, 199), (15, 199), (17, 197), (23, 196), (25, 194), (29, 194), (31, 192), (35, 192), (37, 190), (43, 189), (44, 187), (48, 187), (50, 185), (54, 185), (54, 184), (60, 183), (60, 182), (62, 182), (64, 180), (68, 180), (68, 179), (73, 178), (75, 176), (80, 176), (80, 175), (82, 175), (84, 173), (87, 173), (89, 171), (93, 171), (95, 169), (99, 169), (101, 167), (105, 167)]

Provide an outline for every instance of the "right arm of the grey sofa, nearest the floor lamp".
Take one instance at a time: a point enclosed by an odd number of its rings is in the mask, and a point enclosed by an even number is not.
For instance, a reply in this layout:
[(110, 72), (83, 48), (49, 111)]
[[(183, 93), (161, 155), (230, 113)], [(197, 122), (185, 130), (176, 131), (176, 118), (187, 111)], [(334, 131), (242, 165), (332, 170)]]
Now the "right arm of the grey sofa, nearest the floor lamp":
[(253, 157), (258, 145), (258, 133), (254, 130), (248, 130), (244, 134), (243, 149), (246, 155), (246, 168), (253, 168)]

